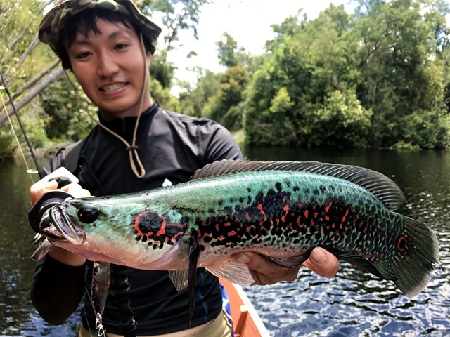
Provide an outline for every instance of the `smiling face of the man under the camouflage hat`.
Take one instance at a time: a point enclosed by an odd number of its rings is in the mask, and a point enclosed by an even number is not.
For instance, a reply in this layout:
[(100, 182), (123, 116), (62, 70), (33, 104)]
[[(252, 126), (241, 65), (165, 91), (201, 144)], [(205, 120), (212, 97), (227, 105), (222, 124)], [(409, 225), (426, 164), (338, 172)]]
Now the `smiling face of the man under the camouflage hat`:
[[(141, 41), (134, 29), (120, 22), (98, 19), (97, 27), (100, 34), (78, 32), (68, 47), (72, 71), (103, 118), (137, 116), (153, 104), (146, 88), (139, 110), (144, 76), (149, 76)], [(146, 59), (150, 65), (150, 53)]]

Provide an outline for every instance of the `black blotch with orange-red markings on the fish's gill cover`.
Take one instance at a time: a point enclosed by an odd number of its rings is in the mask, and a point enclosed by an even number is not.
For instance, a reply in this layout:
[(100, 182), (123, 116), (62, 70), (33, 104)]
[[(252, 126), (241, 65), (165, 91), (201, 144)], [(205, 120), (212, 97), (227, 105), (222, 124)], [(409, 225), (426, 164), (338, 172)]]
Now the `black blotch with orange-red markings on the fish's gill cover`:
[(184, 232), (186, 224), (181, 217), (180, 223), (172, 223), (167, 216), (146, 210), (139, 213), (134, 220), (136, 242), (147, 242), (153, 249), (162, 249), (165, 244), (175, 244)]

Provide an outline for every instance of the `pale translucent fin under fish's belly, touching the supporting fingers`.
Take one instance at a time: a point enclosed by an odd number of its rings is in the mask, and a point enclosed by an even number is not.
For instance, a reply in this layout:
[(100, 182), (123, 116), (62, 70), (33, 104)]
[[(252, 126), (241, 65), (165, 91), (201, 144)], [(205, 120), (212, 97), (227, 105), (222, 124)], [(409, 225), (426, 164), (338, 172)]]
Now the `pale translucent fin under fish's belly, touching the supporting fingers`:
[(238, 263), (232, 258), (211, 265), (205, 265), (205, 269), (217, 277), (239, 284), (240, 286), (255, 284), (255, 279), (247, 265), (245, 263)]

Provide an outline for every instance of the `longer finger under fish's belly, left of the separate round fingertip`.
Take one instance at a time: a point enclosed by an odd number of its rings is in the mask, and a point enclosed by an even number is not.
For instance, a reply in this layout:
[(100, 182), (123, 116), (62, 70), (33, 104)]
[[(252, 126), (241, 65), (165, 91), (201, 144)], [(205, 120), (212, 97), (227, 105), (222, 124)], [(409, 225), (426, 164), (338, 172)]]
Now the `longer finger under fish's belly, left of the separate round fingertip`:
[(255, 284), (275, 284), (280, 281), (295, 281), (300, 267), (283, 268), (269, 262), (258, 253), (245, 252), (236, 254), (236, 261), (245, 263), (252, 273)]

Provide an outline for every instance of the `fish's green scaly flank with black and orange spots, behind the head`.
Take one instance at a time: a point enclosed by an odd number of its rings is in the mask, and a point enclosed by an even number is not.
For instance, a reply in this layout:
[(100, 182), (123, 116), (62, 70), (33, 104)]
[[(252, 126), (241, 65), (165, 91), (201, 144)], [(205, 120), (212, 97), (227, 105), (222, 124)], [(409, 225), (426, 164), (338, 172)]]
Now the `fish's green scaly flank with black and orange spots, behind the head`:
[[(293, 255), (299, 246), (330, 244), (345, 250), (356, 245), (354, 251), (363, 256), (391, 258), (389, 246), (401, 232), (400, 216), (362, 187), (338, 178), (249, 172), (233, 181), (193, 182), (191, 189), (173, 205), (216, 254), (252, 247)], [(196, 189), (201, 201), (192, 197)]]

